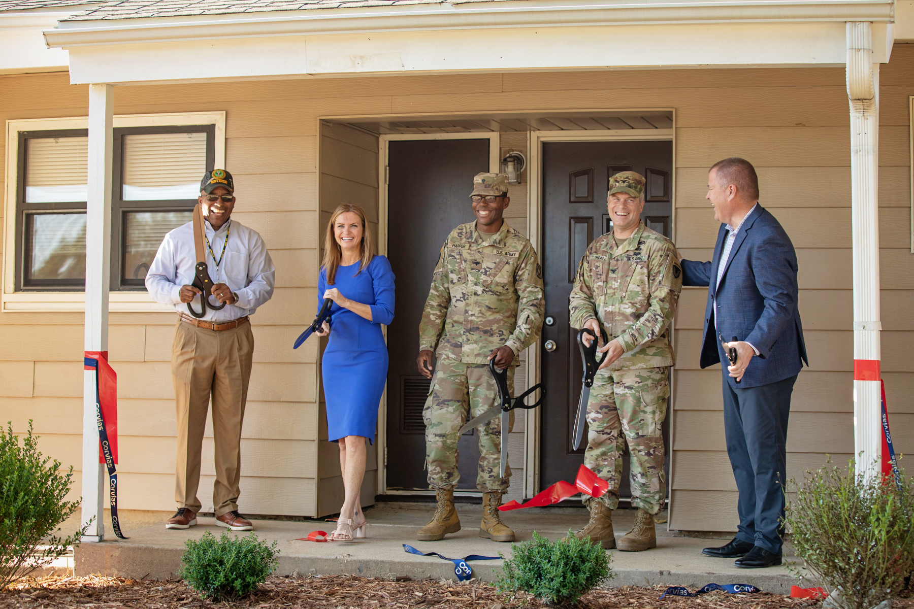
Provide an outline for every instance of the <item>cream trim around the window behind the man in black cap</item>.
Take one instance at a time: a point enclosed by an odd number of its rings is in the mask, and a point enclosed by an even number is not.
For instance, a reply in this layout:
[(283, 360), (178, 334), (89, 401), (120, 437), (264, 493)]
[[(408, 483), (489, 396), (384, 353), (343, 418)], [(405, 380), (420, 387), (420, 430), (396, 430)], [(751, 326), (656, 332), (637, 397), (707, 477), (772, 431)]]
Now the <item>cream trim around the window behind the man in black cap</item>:
[[(114, 116), (114, 128), (130, 127), (181, 127), (191, 125), (213, 125), (215, 130), (213, 162), (215, 167), (225, 166), (226, 112), (174, 112), (164, 114), (122, 114)], [(66, 117), (54, 119), (21, 119), (6, 121), (6, 163), (5, 202), (3, 226), (3, 289), (0, 291), (0, 311), (83, 311), (85, 310), (84, 289), (60, 289), (59, 291), (16, 291), (16, 230), (20, 226), (16, 214), (20, 163), (25, 163), (19, 150), (20, 131), (70, 131), (89, 128), (88, 117)], [(208, 154), (207, 154), (208, 157)], [(207, 158), (208, 161), (208, 158)], [(113, 174), (113, 168), (112, 168)], [(120, 181), (120, 176), (116, 176)], [(112, 210), (114, 206), (112, 205)], [(113, 221), (113, 217), (112, 217)], [(112, 243), (112, 247), (114, 243)], [(20, 260), (21, 262), (21, 260)], [(117, 262), (113, 260), (112, 263)], [(120, 268), (120, 263), (112, 268)], [(148, 292), (119, 290), (118, 283), (112, 283), (109, 310), (112, 312), (161, 312), (171, 307), (150, 299)]]

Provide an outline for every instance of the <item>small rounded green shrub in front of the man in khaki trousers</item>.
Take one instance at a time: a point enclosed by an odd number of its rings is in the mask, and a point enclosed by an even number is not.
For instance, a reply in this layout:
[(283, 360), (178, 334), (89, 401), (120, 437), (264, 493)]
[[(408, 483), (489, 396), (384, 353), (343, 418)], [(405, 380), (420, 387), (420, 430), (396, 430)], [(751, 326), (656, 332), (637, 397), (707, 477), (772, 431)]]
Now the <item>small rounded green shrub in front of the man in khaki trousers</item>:
[(199, 541), (187, 540), (178, 575), (201, 596), (236, 600), (267, 581), (279, 560), (276, 541), (268, 546), (257, 535), (234, 536), (228, 530), (216, 541), (207, 530)]

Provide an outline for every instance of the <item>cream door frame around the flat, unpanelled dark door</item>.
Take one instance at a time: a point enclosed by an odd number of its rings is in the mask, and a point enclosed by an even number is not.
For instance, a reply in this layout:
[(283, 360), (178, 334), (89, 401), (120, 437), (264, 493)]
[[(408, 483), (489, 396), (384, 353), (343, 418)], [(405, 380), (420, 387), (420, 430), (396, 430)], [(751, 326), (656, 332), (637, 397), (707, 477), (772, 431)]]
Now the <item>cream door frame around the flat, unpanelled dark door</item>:
[[(381, 187), (378, 189), (377, 202), (377, 253), (387, 256), (388, 253), (388, 142), (403, 140), (489, 140), (489, 171), (498, 173), (501, 153), (498, 131), (466, 131), (461, 133), (394, 133), (378, 136), (377, 175)], [(387, 326), (384, 328), (387, 340)], [(378, 495), (433, 495), (431, 490), (388, 490), (388, 385), (384, 383), (384, 394), (377, 414), (377, 452), (380, 460), (377, 467)], [(481, 493), (462, 494), (479, 495)]]

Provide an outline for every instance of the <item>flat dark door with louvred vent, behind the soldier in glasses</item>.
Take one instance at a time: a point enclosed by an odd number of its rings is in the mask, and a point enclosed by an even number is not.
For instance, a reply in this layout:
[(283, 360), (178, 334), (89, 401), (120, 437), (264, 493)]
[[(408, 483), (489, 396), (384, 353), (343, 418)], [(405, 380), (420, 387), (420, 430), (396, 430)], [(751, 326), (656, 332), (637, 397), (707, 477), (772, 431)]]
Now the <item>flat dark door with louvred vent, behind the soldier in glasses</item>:
[[(388, 488), (429, 488), (422, 407), (429, 380), (416, 369), (419, 322), (441, 245), (473, 220), (473, 175), (489, 171), (489, 140), (388, 142), (388, 258), (397, 310), (388, 327)], [(475, 432), (461, 438), (458, 488), (476, 488)]]

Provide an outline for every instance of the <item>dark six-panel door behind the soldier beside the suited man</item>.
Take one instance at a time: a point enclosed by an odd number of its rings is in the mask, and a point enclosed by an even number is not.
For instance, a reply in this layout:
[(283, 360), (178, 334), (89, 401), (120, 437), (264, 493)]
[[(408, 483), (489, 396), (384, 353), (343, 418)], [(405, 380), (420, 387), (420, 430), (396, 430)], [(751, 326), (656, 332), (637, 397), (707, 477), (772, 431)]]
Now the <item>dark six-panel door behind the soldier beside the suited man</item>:
[[(607, 180), (615, 173), (635, 171), (647, 179), (642, 219), (670, 236), (673, 214), (673, 142), (546, 142), (543, 144), (543, 279), (546, 314), (555, 323), (543, 326), (542, 343), (558, 343), (542, 351), (542, 377), (549, 392), (543, 407), (540, 488), (573, 480), (584, 462), (584, 447), (572, 450), (571, 430), (578, 409), (583, 374), (569, 325), (569, 294), (584, 250), (611, 230), (606, 207)], [(664, 444), (669, 445), (669, 417)], [(586, 434), (585, 434), (586, 442)], [(621, 497), (630, 497), (628, 448), (625, 449)], [(665, 463), (669, 479), (669, 450)]]

